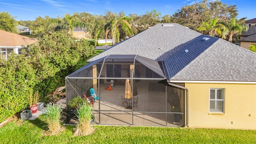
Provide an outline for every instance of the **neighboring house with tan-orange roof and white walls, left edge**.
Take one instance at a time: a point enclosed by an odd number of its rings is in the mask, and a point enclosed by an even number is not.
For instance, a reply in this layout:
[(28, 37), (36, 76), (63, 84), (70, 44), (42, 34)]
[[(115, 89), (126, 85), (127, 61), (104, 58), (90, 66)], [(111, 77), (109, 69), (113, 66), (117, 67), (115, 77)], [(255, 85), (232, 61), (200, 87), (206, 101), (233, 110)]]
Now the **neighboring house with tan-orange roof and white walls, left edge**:
[(8, 54), (10, 54), (12, 51), (18, 54), (22, 49), (22, 45), (26, 46), (28, 44), (33, 44), (36, 41), (37, 40), (34, 38), (28, 38), (26, 36), (0, 30), (1, 58), (7, 59)]

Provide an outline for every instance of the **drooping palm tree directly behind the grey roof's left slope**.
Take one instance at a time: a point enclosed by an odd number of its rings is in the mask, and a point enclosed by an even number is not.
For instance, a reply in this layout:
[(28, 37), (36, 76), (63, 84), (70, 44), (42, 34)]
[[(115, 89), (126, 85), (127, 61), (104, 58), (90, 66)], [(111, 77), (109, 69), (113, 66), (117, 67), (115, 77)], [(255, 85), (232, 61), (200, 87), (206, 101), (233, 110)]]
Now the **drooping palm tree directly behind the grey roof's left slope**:
[(124, 30), (125, 34), (128, 36), (133, 36), (132, 28), (129, 24), (130, 18), (128, 16), (124, 16), (121, 18), (112, 18), (110, 21), (100, 21), (95, 26), (95, 40), (98, 39), (98, 36), (100, 33), (104, 30), (105, 34), (105, 40), (107, 44), (107, 38), (110, 34), (112, 38), (112, 45), (114, 45), (116, 42), (119, 42), (120, 32), (119, 30)]

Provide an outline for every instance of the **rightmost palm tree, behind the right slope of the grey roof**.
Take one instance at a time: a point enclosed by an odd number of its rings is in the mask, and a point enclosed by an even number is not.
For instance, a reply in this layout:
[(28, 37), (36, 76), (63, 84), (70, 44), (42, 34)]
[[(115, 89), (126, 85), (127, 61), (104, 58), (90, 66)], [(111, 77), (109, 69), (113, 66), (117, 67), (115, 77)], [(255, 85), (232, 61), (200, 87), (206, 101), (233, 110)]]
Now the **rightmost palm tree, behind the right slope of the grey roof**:
[(226, 31), (227, 31), (228, 41), (229, 42), (232, 42), (232, 37), (235, 34), (241, 34), (243, 30), (247, 31), (246, 26), (244, 26), (242, 24), (238, 24), (236, 22), (235, 18), (232, 18), (230, 23), (225, 24), (225, 27), (226, 27)]

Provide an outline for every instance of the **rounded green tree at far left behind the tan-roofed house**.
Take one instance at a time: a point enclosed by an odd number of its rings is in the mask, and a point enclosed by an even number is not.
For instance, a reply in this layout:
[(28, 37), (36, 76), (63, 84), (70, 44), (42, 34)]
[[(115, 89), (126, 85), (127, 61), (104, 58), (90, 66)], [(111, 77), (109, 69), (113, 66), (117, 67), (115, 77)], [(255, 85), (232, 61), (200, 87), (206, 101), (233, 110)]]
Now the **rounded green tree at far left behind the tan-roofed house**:
[(0, 12), (0, 30), (16, 33), (18, 22), (8, 12)]

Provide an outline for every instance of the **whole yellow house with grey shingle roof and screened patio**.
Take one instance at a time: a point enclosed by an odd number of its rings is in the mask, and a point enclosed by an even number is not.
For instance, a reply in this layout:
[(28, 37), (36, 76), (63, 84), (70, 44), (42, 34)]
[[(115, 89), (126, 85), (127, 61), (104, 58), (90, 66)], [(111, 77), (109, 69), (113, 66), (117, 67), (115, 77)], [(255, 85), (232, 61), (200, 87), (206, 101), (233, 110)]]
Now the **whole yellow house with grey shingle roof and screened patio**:
[(226, 40), (156, 24), (88, 62), (66, 77), (66, 104), (94, 88), (96, 123), (256, 130), (256, 53)]

